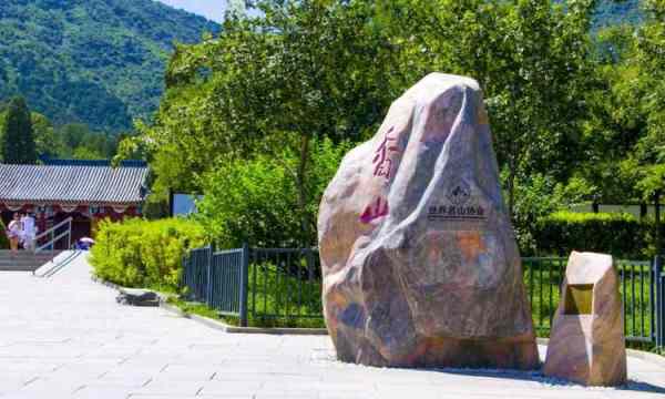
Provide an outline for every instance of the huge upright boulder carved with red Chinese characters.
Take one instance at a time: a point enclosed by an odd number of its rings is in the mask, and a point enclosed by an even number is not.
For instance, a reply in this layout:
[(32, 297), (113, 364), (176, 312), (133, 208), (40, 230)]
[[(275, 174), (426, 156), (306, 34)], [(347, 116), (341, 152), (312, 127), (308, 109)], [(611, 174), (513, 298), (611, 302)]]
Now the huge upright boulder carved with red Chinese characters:
[(539, 365), (520, 255), (478, 83), (432, 73), (352, 150), (318, 219), (340, 360)]

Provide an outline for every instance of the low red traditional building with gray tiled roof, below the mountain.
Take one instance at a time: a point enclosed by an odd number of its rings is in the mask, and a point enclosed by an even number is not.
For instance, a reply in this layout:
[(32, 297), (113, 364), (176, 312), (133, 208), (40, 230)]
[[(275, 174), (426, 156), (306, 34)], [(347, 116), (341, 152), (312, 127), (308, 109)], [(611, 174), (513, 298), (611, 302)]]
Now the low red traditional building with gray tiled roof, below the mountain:
[(73, 218), (76, 239), (91, 236), (102, 218), (140, 216), (146, 194), (147, 165), (142, 161), (43, 160), (41, 165), (0, 164), (0, 212), (34, 214), (40, 231)]

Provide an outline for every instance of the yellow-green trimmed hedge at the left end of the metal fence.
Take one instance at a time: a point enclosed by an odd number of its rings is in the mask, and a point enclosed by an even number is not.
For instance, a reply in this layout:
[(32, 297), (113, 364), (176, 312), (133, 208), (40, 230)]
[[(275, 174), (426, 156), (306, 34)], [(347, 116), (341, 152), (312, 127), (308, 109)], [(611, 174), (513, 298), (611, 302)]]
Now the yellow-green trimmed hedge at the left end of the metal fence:
[(98, 277), (125, 287), (176, 290), (182, 257), (203, 246), (203, 227), (190, 219), (127, 219), (100, 224), (90, 263)]

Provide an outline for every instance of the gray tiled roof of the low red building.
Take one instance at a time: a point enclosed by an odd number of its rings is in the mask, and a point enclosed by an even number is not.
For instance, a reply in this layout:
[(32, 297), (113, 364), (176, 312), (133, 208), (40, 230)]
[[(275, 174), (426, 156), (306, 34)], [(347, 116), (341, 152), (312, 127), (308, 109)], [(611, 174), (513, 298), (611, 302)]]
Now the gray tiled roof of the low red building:
[(146, 176), (145, 166), (0, 164), (0, 203), (139, 204)]

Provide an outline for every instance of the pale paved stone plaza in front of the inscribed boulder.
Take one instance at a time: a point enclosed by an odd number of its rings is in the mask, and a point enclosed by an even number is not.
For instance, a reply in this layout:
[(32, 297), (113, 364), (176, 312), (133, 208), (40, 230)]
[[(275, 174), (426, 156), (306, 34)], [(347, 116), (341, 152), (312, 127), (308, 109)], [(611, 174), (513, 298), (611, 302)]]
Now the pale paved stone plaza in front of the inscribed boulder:
[(327, 337), (228, 335), (114, 298), (90, 279), (83, 257), (51, 279), (0, 273), (0, 397), (665, 397), (665, 368), (635, 358), (622, 389), (538, 372), (367, 368), (335, 361)]

